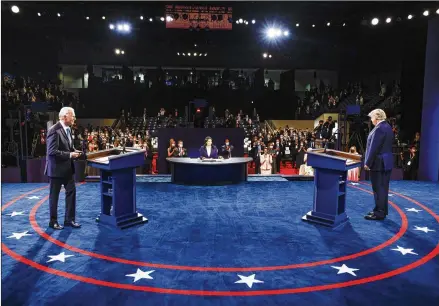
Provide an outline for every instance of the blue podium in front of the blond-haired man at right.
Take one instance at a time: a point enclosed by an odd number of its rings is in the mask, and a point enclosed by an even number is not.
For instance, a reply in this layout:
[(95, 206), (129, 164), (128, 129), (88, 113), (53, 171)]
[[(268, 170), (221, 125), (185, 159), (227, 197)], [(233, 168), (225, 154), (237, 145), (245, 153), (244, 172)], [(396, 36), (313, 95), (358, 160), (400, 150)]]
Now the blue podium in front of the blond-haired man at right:
[(361, 167), (361, 155), (314, 149), (307, 152), (307, 164), (314, 168), (314, 204), (302, 220), (331, 228), (346, 223), (347, 173)]

